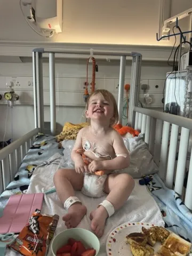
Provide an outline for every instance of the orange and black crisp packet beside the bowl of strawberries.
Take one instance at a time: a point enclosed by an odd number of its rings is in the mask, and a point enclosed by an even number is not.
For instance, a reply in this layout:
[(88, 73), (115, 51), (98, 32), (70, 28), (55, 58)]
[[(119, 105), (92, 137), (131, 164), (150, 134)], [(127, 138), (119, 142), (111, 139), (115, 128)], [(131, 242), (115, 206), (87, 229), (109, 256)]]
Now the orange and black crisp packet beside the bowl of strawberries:
[(59, 215), (42, 215), (36, 209), (10, 248), (25, 256), (45, 256), (57, 228)]

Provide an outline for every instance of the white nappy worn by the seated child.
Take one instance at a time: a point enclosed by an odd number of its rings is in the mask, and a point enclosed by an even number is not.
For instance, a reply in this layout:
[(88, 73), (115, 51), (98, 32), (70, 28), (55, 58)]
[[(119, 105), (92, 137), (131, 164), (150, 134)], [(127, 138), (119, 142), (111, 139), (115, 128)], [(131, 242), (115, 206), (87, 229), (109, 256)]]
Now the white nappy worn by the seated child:
[(107, 179), (107, 174), (105, 175), (95, 175), (90, 173), (84, 174), (84, 182), (82, 193), (89, 197), (102, 197), (105, 195), (104, 185)]

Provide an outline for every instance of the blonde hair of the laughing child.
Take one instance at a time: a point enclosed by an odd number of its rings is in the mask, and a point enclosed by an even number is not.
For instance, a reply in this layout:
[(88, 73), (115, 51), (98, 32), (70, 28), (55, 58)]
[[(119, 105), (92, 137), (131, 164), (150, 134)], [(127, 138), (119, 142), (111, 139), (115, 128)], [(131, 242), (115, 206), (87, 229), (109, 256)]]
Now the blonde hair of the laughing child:
[(114, 105), (114, 116), (113, 118), (111, 119), (111, 123), (110, 123), (110, 126), (114, 126), (115, 124), (118, 123), (118, 108), (117, 108), (117, 103), (116, 103), (116, 100), (115, 100), (115, 97), (114, 95), (107, 91), (107, 90), (95, 90), (94, 92), (92, 92), (90, 95), (89, 95), (89, 98), (87, 99), (87, 102), (86, 102), (86, 110), (88, 109), (89, 107), (89, 102), (90, 102), (90, 99), (92, 96), (94, 95), (97, 95), (97, 94), (101, 94), (102, 97), (105, 99), (105, 100), (111, 100), (113, 102), (113, 105)]

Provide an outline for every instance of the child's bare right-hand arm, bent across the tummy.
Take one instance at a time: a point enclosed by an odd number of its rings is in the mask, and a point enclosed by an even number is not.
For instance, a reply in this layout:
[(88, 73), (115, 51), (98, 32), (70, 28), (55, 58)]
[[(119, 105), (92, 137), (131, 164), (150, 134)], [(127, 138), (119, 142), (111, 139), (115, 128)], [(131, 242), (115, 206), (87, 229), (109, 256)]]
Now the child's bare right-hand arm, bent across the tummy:
[(104, 170), (124, 169), (130, 165), (129, 151), (126, 149), (124, 141), (119, 133), (114, 132), (113, 147), (117, 156), (111, 160), (102, 161)]

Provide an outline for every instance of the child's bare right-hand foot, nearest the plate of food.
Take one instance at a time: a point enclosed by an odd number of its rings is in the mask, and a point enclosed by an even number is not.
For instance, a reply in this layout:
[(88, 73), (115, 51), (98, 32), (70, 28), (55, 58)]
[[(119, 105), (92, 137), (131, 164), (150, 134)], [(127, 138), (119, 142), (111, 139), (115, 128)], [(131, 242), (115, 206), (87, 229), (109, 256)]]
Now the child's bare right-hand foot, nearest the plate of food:
[(101, 237), (103, 235), (107, 218), (108, 213), (105, 207), (103, 207), (102, 205), (100, 205), (95, 211), (92, 211), (90, 213), (91, 229), (98, 237)]

